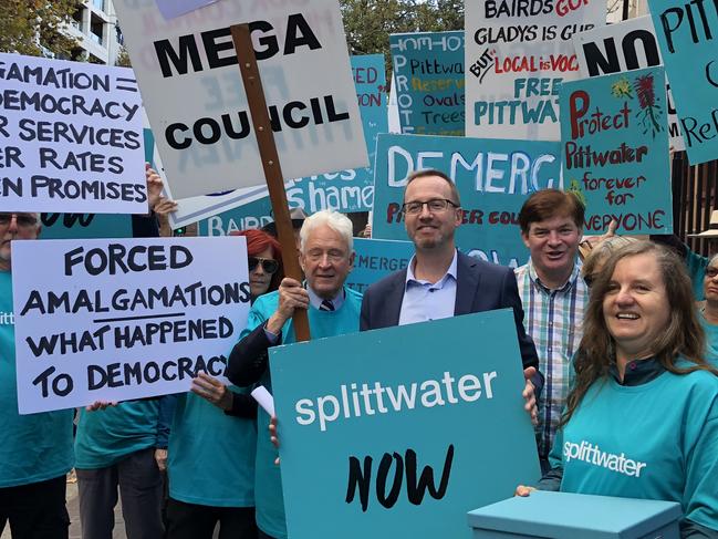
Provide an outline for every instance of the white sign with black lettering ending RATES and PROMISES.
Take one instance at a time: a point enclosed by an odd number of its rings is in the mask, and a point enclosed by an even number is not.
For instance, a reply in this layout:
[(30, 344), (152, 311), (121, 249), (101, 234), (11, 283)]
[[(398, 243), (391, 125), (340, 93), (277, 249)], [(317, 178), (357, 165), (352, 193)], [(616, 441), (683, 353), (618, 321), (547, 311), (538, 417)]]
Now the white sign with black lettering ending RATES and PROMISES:
[(0, 53), (4, 211), (146, 214), (132, 70)]

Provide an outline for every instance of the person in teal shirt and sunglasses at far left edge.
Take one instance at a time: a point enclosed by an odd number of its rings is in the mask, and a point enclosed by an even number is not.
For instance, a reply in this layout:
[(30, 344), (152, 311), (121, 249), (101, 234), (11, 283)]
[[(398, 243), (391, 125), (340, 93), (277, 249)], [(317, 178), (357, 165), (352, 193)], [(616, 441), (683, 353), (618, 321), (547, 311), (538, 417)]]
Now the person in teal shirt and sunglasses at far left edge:
[(65, 475), (73, 466), (72, 410), (20, 415), (12, 307), (13, 240), (40, 235), (38, 214), (0, 213), (0, 535), (67, 538)]

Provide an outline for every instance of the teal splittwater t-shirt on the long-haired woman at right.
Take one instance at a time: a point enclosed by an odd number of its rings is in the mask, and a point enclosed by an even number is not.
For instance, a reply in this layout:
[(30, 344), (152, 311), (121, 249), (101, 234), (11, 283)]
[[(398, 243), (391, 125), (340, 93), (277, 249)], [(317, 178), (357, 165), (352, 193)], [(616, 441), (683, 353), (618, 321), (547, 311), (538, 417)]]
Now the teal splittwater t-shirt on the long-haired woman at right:
[(562, 491), (677, 501), (685, 518), (718, 530), (718, 376), (596, 381), (556, 436), (551, 465), (563, 467)]

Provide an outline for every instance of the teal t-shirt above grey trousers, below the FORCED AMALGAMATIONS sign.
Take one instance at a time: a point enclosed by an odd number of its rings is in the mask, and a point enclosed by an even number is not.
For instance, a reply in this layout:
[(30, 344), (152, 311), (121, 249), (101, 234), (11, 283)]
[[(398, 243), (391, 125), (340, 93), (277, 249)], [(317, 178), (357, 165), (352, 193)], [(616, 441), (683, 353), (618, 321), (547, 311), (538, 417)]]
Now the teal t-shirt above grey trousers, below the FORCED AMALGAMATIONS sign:
[(157, 444), (159, 401), (128, 401), (98, 412), (80, 410), (75, 467), (106, 468)]

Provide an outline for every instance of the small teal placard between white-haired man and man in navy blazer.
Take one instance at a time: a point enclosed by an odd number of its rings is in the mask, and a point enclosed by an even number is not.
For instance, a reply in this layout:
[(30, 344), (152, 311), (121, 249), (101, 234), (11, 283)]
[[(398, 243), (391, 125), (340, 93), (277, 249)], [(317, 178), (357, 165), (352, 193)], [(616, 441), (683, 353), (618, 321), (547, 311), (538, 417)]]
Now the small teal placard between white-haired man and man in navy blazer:
[(346, 286), (364, 293), (370, 284), (408, 266), (414, 256), (410, 241), (354, 238), (354, 269)]

